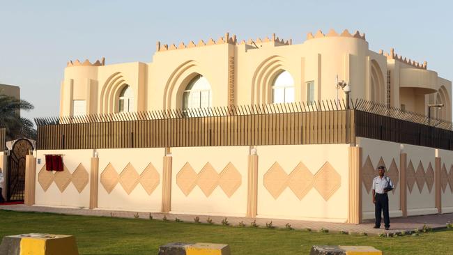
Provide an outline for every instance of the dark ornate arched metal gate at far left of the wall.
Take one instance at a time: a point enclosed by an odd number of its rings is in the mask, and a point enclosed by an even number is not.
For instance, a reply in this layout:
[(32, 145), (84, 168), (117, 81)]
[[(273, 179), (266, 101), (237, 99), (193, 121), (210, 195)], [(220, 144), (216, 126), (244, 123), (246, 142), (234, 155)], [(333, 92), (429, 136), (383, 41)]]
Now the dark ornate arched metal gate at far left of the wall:
[(8, 157), (8, 179), (6, 201), (23, 201), (25, 190), (25, 156), (33, 150), (28, 139), (18, 139)]

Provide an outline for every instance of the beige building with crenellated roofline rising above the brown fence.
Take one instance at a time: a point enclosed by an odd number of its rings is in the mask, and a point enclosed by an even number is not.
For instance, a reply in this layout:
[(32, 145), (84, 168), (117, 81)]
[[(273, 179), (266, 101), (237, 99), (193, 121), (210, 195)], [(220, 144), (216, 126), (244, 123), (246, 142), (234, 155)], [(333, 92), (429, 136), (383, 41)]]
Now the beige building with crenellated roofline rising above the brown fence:
[(342, 99), (337, 77), (351, 98), (425, 115), (427, 105), (442, 103), (432, 116), (452, 119), (450, 81), (426, 61), (374, 52), (364, 34), (347, 30), (309, 33), (298, 45), (275, 34), (239, 41), (229, 33), (187, 45), (158, 42), (150, 63), (70, 61), (60, 115)]

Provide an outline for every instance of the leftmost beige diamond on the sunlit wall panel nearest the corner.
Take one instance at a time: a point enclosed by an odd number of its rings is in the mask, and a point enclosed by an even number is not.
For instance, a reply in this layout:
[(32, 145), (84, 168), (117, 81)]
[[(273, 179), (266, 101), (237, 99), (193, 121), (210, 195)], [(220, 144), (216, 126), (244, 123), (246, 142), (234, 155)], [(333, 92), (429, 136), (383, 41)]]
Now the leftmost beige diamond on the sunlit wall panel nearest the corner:
[(264, 174), (263, 183), (266, 190), (277, 199), (286, 189), (288, 183), (288, 174), (275, 162), (272, 167)]

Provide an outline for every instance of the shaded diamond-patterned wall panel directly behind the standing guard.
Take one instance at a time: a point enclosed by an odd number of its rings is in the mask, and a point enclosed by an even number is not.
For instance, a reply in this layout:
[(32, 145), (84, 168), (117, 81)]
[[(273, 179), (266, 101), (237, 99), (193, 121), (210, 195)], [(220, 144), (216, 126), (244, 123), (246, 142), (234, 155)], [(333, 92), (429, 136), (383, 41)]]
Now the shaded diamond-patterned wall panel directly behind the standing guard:
[(371, 185), (378, 175), (377, 168), (381, 165), (387, 169), (385, 173), (393, 182), (394, 190), (388, 192), (390, 217), (401, 217), (399, 206), (399, 144), (390, 141), (379, 141), (360, 137), (357, 144), (362, 147), (362, 217), (374, 219), (374, 203)]

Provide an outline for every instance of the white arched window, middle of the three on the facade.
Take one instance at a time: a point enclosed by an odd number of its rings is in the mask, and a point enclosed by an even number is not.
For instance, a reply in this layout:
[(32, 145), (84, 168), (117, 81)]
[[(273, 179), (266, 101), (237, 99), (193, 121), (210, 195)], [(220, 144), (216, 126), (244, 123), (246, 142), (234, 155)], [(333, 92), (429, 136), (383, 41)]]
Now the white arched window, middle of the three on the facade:
[(211, 106), (210, 84), (208, 79), (197, 75), (185, 87), (183, 109), (205, 108)]

